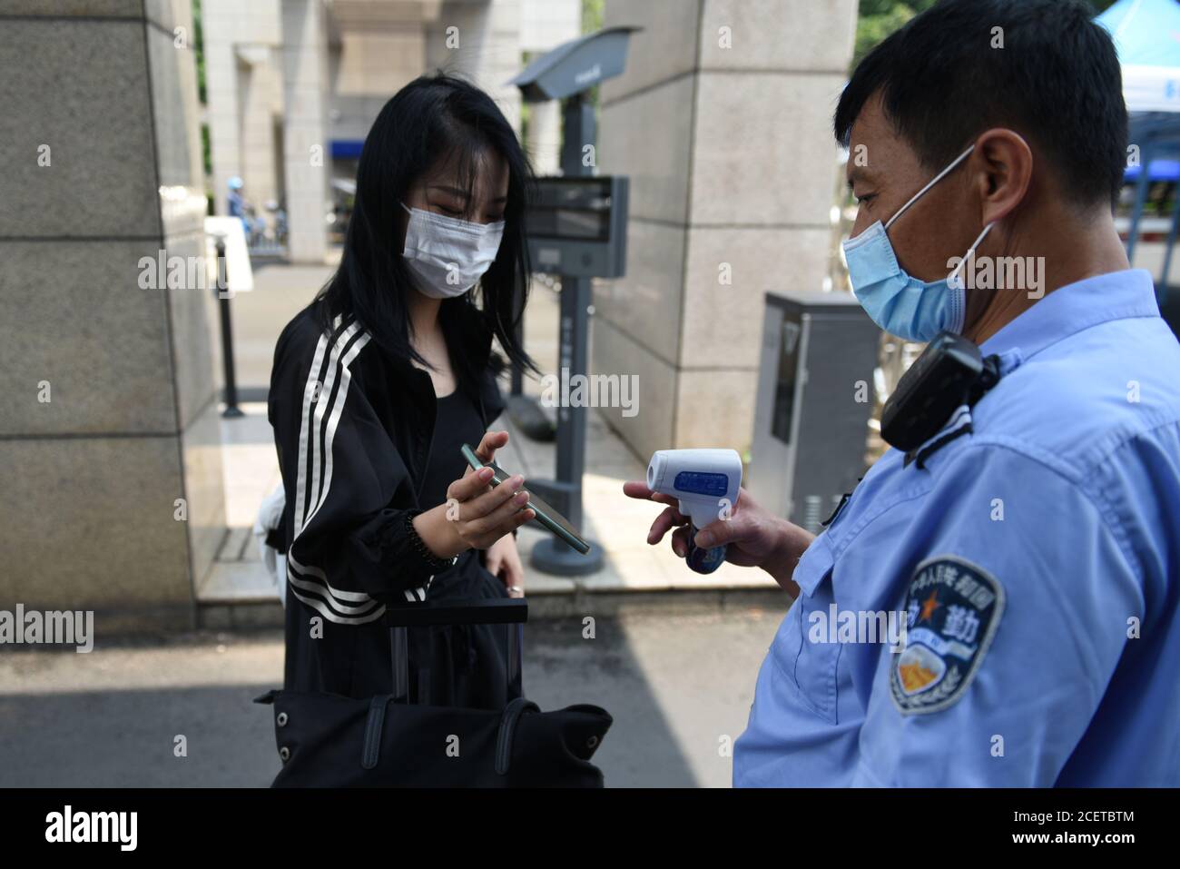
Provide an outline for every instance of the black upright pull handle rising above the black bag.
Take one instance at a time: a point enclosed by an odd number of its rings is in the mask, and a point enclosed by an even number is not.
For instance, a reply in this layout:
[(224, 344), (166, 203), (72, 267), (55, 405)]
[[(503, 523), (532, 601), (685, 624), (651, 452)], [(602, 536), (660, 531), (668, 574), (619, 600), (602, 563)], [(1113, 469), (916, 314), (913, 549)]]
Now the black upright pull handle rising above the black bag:
[[(409, 633), (411, 627), (434, 625), (504, 625), (509, 640), (507, 684), (520, 674), (524, 622), (529, 620), (529, 602), (523, 597), (473, 599), (459, 602), (387, 606), (385, 623), (389, 628), (389, 662), (393, 669), (393, 695), (396, 703), (409, 703)], [(419, 684), (418, 703), (430, 704)]]

